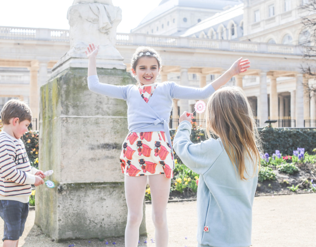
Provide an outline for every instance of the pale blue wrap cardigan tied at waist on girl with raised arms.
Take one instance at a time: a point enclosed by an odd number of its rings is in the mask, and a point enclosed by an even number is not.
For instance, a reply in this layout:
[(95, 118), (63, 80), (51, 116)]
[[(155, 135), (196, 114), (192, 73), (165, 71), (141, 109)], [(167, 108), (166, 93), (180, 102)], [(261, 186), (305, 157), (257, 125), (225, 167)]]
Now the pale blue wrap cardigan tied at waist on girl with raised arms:
[(169, 119), (172, 99), (207, 99), (215, 89), (211, 84), (203, 88), (180, 86), (175, 82), (158, 83), (148, 103), (141, 97), (136, 85), (117, 86), (100, 83), (97, 75), (88, 77), (91, 91), (127, 102), (127, 122), (130, 132), (164, 131), (169, 145)]

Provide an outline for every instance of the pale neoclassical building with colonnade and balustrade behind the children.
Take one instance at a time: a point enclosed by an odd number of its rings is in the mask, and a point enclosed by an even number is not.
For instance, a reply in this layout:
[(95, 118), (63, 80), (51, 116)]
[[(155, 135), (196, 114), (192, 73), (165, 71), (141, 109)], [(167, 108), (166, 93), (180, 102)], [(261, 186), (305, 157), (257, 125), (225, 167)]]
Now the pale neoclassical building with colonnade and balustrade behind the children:
[[(301, 72), (304, 46), (314, 45), (301, 21), (310, 15), (300, 8), (307, 2), (162, 0), (131, 33), (117, 34), (116, 48), (130, 71), (135, 49), (152, 46), (163, 59), (160, 81), (195, 87), (216, 79), (239, 57), (248, 58), (251, 68), (228, 84), (243, 88), (258, 126), (270, 119), (276, 127), (313, 127), (315, 97), (304, 85), (314, 79)], [(20, 98), (37, 118), (39, 88), (69, 50), (69, 31), (0, 27), (0, 42), (0, 108)], [(174, 100), (172, 127), (179, 113), (193, 111), (194, 103)]]

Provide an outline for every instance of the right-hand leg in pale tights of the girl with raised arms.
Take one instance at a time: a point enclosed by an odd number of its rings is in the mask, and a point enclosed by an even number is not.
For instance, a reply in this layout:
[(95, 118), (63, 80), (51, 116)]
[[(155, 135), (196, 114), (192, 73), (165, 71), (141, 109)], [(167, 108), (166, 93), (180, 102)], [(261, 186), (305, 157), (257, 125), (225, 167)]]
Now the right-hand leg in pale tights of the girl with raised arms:
[(165, 174), (150, 175), (149, 186), (152, 204), (152, 219), (155, 225), (155, 243), (159, 247), (168, 245), (167, 203), (171, 179)]

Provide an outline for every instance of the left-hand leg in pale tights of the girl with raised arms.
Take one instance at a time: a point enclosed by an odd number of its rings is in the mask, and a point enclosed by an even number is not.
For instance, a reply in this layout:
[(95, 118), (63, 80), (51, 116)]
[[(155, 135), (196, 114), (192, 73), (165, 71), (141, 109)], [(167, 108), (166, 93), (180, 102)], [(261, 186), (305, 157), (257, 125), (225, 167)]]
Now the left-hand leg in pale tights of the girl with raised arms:
[(143, 220), (143, 201), (147, 176), (130, 177), (125, 175), (124, 183), (128, 210), (125, 228), (125, 247), (136, 247), (139, 239), (139, 226)]

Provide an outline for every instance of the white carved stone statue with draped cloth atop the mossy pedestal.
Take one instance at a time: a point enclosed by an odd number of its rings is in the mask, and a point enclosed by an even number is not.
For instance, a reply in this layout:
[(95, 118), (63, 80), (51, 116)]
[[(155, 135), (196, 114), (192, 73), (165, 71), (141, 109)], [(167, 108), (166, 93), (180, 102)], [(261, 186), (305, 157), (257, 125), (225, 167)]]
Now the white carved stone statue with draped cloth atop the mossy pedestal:
[(70, 55), (85, 57), (89, 43), (100, 45), (99, 58), (121, 55), (115, 48), (116, 28), (122, 20), (122, 10), (112, 0), (74, 0), (67, 19), (70, 25)]

